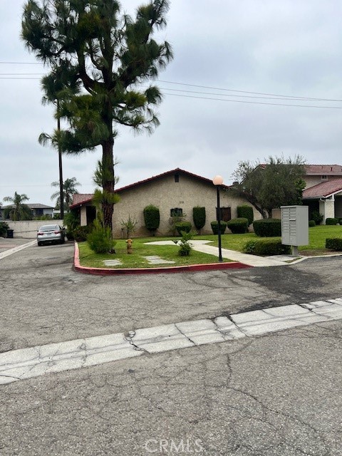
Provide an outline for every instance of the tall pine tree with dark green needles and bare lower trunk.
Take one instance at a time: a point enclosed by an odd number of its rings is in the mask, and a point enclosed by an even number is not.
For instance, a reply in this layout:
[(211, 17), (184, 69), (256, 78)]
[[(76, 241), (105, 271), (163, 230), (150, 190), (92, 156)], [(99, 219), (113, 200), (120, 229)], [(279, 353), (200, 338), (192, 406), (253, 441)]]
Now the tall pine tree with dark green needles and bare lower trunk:
[(168, 8), (167, 0), (150, 0), (133, 18), (116, 0), (28, 0), (24, 6), (21, 36), (51, 69), (43, 90), (47, 100), (58, 100), (56, 117), (68, 125), (40, 140), (69, 154), (102, 147), (103, 220), (110, 229), (118, 125), (148, 133), (159, 125), (160, 90), (142, 83), (172, 59), (170, 44), (153, 38), (166, 26)]

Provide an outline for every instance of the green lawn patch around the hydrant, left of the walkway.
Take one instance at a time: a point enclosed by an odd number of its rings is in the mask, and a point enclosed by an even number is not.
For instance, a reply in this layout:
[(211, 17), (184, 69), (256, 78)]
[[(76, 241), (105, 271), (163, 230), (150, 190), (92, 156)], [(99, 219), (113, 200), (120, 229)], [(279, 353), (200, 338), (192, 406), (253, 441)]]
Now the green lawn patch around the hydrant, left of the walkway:
[[(145, 242), (176, 240), (177, 237), (147, 237), (133, 239), (133, 254), (127, 253), (125, 239), (119, 239), (115, 244), (115, 254), (95, 254), (86, 242), (78, 244), (80, 249), (80, 264), (81, 266), (95, 268), (153, 268), (167, 266), (185, 266), (187, 264), (208, 264), (216, 263), (217, 257), (214, 255), (202, 254), (192, 250), (188, 257), (180, 257), (178, 255), (179, 247), (172, 245), (146, 245)], [(202, 237), (201, 237), (202, 239)], [(158, 255), (162, 259), (175, 261), (173, 264), (150, 264), (144, 257)], [(121, 261), (120, 266), (105, 266), (103, 260), (118, 259)], [(229, 262), (229, 260), (224, 260)]]

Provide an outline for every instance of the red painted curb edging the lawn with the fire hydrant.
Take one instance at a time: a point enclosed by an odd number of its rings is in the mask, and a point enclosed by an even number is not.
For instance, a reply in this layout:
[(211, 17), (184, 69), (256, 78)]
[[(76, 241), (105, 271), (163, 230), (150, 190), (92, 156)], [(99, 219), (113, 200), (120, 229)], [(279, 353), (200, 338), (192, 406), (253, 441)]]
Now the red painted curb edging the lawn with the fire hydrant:
[(197, 272), (197, 271), (218, 271), (222, 269), (247, 269), (252, 268), (249, 264), (231, 261), (230, 263), (208, 263), (208, 264), (187, 264), (187, 266), (167, 266), (165, 268), (121, 268), (121, 269), (108, 269), (108, 268), (89, 268), (81, 266), (79, 259), (78, 243), (75, 242), (73, 267), (75, 271), (83, 274), (95, 274), (98, 276), (122, 276), (126, 274), (162, 274), (162, 273), (176, 273), (176, 272)]

